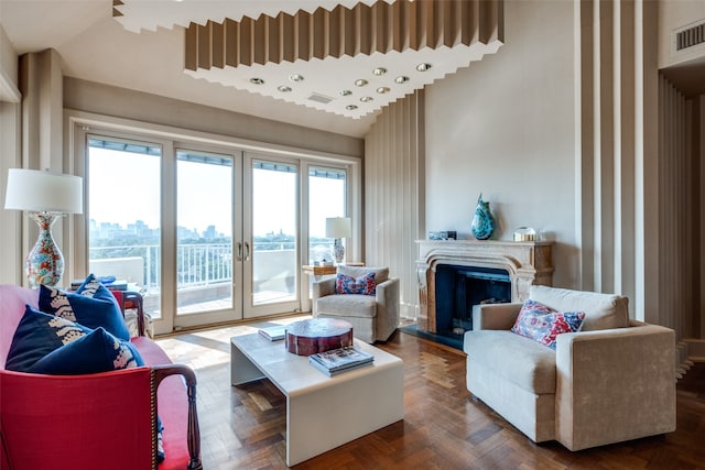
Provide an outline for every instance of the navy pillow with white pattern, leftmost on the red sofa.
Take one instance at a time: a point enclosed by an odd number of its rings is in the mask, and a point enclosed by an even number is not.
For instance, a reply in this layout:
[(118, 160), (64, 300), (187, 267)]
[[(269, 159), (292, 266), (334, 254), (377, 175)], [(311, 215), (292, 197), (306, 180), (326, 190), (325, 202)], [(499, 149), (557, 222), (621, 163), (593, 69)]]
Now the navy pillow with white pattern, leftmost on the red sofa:
[(83, 325), (37, 311), (28, 305), (12, 337), (6, 369), (28, 372), (44, 356), (90, 331)]

